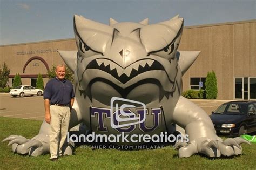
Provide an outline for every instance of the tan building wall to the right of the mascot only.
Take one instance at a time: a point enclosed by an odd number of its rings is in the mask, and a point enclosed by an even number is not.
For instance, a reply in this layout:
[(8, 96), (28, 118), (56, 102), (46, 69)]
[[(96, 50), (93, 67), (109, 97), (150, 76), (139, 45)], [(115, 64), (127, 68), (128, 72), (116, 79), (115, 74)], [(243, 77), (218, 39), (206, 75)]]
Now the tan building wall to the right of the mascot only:
[(234, 99), (234, 78), (256, 78), (256, 20), (187, 27), (179, 50), (201, 51), (183, 77), (183, 91), (190, 77), (217, 76), (218, 98)]

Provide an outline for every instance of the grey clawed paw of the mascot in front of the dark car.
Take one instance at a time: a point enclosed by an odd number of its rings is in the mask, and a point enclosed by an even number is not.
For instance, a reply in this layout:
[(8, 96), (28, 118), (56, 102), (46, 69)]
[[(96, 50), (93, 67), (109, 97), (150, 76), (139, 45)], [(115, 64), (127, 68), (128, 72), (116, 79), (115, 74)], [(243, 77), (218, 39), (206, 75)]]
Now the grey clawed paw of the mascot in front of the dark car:
[[(200, 141), (200, 142), (198, 142)], [(177, 142), (174, 146), (178, 149), (179, 158), (188, 158), (196, 153), (202, 153), (208, 157), (220, 157), (221, 155), (231, 157), (242, 154), (242, 147), (240, 144), (250, 144), (250, 142), (237, 138), (228, 138), (224, 141), (220, 140), (194, 140), (189, 143)]]

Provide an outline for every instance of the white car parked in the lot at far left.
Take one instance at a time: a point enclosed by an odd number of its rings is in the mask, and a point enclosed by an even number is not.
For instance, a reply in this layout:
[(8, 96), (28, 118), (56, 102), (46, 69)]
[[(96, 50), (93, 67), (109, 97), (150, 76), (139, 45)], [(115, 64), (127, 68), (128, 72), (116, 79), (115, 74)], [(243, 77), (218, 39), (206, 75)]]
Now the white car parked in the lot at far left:
[(32, 86), (23, 85), (23, 86), (17, 86), (14, 89), (11, 89), (9, 94), (13, 97), (16, 97), (16, 96), (24, 97), (24, 96), (33, 96), (33, 95), (41, 96), (43, 94), (43, 90), (35, 89), (35, 87), (32, 87)]

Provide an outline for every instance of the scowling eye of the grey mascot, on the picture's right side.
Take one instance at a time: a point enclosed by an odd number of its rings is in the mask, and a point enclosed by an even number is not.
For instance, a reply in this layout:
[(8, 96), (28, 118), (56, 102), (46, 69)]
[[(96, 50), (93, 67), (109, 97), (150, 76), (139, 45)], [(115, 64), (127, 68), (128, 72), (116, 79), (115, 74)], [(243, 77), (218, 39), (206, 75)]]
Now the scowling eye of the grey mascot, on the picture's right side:
[(150, 52), (150, 54), (163, 57), (170, 61), (174, 59), (174, 56), (175, 56), (174, 54), (176, 53), (177, 48), (178, 48), (178, 44), (175, 44), (175, 42), (172, 42), (168, 44), (166, 47), (164, 47), (163, 49), (158, 51), (152, 51)]

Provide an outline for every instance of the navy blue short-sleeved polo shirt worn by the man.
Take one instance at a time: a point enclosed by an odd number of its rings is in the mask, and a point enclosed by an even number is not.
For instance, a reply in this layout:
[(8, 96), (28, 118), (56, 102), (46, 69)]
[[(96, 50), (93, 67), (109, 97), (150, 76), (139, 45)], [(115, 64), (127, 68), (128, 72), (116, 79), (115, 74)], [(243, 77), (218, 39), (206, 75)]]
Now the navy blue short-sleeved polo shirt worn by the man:
[(71, 98), (75, 97), (73, 85), (69, 80), (52, 78), (46, 83), (44, 99), (49, 99), (51, 104), (70, 104)]

